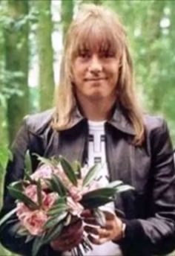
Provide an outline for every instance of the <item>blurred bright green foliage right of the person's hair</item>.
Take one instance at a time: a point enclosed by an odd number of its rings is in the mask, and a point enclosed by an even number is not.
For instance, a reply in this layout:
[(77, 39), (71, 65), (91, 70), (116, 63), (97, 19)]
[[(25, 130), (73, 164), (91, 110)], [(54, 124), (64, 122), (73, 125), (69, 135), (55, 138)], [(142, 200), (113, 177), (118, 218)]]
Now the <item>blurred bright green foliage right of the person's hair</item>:
[(175, 143), (175, 1), (103, 1), (125, 24), (144, 108), (162, 115)]

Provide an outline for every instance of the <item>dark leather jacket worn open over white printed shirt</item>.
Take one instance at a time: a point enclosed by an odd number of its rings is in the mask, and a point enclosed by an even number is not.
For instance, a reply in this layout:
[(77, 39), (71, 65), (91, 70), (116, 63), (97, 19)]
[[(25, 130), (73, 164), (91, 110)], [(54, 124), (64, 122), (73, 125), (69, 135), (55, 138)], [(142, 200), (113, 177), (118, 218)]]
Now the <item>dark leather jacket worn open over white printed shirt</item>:
[[(87, 156), (87, 120), (75, 112), (70, 129), (56, 132), (50, 127), (53, 110), (24, 118), (12, 146), (13, 160), (7, 164), (4, 205), (1, 216), (14, 207), (7, 185), (24, 176), (24, 155), (50, 157), (62, 155), (82, 163)], [(105, 124), (106, 153), (110, 179), (121, 179), (135, 191), (117, 197), (115, 206), (125, 213), (125, 238), (119, 241), (124, 255), (161, 255), (175, 248), (175, 180), (174, 159), (168, 129), (162, 118), (145, 115), (145, 142), (133, 145), (133, 127), (119, 109)], [(31, 156), (33, 171), (38, 164)], [(15, 238), (10, 225), (0, 231), (1, 243), (22, 255), (31, 255), (31, 244)], [(43, 246), (40, 256), (62, 255)]]

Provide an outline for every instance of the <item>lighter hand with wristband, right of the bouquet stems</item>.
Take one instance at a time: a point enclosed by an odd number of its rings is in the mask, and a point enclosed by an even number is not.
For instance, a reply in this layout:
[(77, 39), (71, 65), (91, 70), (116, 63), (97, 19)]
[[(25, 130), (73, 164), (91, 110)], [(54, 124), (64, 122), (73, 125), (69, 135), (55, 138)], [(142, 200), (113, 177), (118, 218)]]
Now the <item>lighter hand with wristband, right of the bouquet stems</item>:
[[(96, 223), (96, 219), (90, 211), (86, 210), (82, 214), (82, 216), (85, 217), (85, 223), (90, 224), (85, 225), (85, 231), (90, 233), (88, 234), (88, 238), (91, 243), (96, 245), (106, 243), (110, 240), (118, 241), (122, 238), (122, 220), (110, 211), (103, 212), (106, 220), (105, 226), (103, 227), (99, 227), (99, 224)], [(96, 237), (93, 236), (94, 234)]]

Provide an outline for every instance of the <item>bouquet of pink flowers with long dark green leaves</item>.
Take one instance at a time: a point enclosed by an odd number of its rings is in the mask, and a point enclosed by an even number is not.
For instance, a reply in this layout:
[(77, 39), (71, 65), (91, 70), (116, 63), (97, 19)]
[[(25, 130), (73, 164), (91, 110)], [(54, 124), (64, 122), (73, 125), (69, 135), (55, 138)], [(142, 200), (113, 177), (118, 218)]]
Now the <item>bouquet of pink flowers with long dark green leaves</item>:
[[(117, 193), (132, 188), (119, 180), (102, 186), (98, 180), (99, 165), (81, 167), (78, 161), (70, 163), (63, 156), (38, 158), (40, 164), (35, 173), (26, 172), (24, 179), (8, 187), (16, 199), (16, 208), (0, 221), (2, 225), (16, 214), (13, 231), (16, 236), (26, 237), (26, 243), (33, 240), (33, 256), (42, 245), (59, 237), (62, 229), (75, 218), (81, 219), (84, 209), (93, 210), (97, 223), (103, 225), (104, 215), (99, 207), (113, 201)], [(81, 248), (85, 252), (91, 249), (87, 235), (83, 235), (81, 245), (76, 246), (72, 254), (81, 256)]]

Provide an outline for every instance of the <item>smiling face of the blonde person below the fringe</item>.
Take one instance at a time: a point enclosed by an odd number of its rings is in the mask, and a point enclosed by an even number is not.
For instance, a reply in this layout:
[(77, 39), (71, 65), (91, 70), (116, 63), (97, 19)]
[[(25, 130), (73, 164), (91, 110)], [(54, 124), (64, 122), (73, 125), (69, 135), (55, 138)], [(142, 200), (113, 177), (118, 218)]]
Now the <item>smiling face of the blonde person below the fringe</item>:
[(79, 52), (73, 60), (76, 96), (84, 100), (113, 100), (119, 77), (119, 58), (110, 51)]

